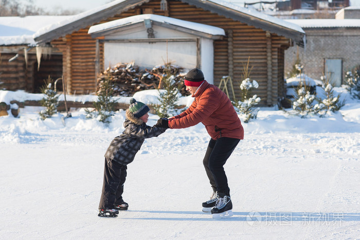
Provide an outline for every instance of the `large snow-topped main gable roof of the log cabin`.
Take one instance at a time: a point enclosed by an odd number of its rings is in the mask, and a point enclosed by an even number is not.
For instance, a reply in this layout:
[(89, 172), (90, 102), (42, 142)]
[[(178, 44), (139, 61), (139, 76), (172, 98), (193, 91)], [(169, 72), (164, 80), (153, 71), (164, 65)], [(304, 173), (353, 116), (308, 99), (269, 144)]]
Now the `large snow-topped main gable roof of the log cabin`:
[[(294, 39), (298, 43), (303, 42), (304, 31), (298, 25), (285, 22), (276, 17), (269, 16), (251, 10), (239, 7), (221, 0), (181, 0), (184, 3), (194, 5), (211, 12), (218, 13), (236, 21), (246, 23), (266, 31), (283, 35)], [(128, 11), (136, 6), (142, 5), (149, 0), (116, 0), (83, 13), (74, 15), (64, 21), (46, 26), (34, 34), (34, 39), (38, 44), (49, 42), (71, 32), (77, 31), (87, 26), (92, 26), (109, 17)]]

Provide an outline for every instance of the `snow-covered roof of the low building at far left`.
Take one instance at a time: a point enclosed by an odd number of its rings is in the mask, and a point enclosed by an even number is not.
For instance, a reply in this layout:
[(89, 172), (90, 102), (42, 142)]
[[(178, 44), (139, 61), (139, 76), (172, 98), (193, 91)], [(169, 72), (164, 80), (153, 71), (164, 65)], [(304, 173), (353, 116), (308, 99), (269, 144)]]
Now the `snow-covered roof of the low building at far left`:
[(42, 27), (69, 16), (0, 17), (0, 45), (34, 45), (33, 34)]

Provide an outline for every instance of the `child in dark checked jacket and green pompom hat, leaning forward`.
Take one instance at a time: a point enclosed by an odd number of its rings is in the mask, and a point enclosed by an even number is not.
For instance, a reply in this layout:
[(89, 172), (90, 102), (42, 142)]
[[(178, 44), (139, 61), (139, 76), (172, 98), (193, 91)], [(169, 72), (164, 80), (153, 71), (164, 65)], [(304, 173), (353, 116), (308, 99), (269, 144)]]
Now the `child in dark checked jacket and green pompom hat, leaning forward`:
[(129, 205), (122, 199), (123, 184), (127, 176), (127, 165), (145, 138), (157, 137), (165, 128), (151, 127), (148, 122), (150, 108), (135, 99), (130, 99), (124, 121), (125, 130), (114, 138), (105, 153), (104, 183), (99, 204), (100, 217), (117, 217), (118, 210), (127, 210)]

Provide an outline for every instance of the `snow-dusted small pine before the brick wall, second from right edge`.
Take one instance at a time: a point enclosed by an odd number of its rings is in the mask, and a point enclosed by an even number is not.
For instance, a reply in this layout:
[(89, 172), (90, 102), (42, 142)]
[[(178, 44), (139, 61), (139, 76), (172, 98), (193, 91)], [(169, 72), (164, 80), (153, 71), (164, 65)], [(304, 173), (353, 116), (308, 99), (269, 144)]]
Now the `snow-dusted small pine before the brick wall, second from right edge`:
[(333, 86), (325, 76), (321, 77), (322, 88), (325, 91), (325, 99), (317, 99), (318, 104), (314, 106), (315, 111), (320, 117), (325, 116), (329, 111), (337, 112), (345, 105), (345, 100), (340, 102), (340, 94), (335, 97)]

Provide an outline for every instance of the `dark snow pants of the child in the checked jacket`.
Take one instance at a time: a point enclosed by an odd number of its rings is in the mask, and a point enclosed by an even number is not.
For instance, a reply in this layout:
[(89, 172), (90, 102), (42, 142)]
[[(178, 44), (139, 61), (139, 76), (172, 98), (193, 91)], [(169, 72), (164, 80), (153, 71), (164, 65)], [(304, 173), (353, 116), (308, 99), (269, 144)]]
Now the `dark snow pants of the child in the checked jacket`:
[(127, 176), (127, 165), (122, 165), (105, 158), (104, 183), (99, 209), (113, 209), (114, 205), (122, 204), (122, 193)]

